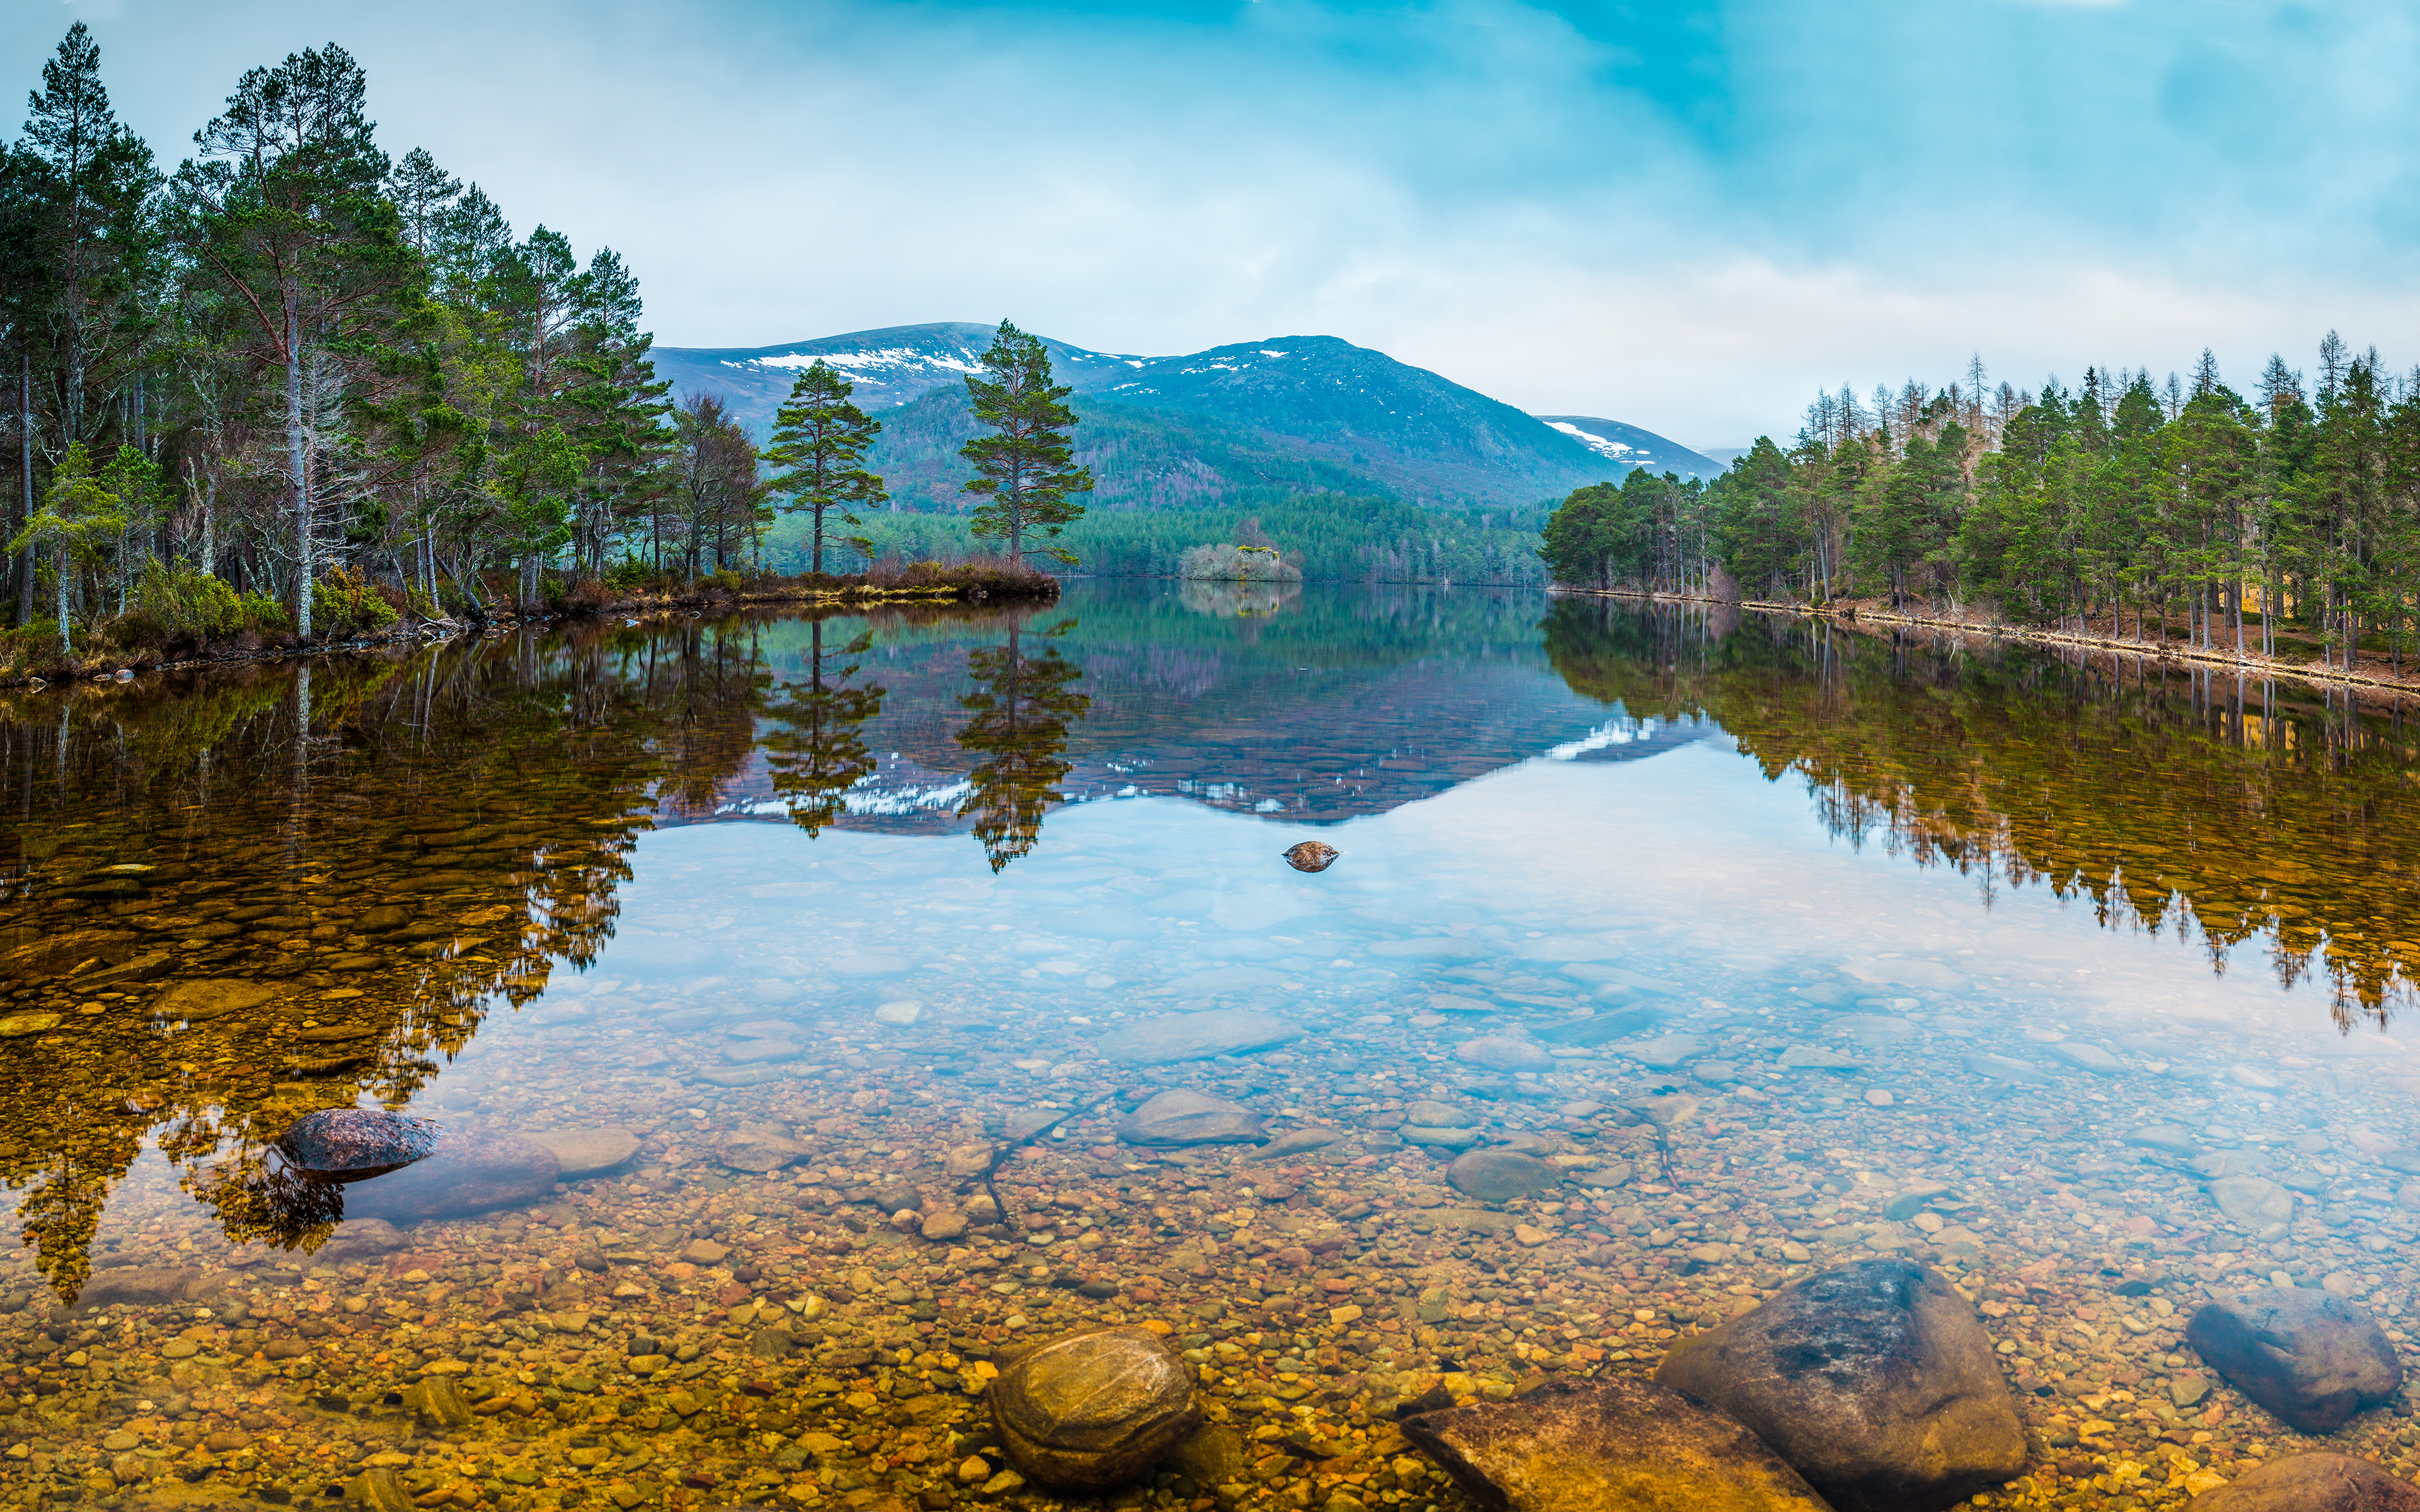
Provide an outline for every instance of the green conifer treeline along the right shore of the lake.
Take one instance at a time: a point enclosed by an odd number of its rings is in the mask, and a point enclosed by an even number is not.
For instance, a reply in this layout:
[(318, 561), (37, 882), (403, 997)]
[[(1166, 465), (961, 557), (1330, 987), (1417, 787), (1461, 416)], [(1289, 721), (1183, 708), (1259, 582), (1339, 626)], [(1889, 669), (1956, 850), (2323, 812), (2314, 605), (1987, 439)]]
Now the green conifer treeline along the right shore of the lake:
[[(1888, 600), (2352, 665), (2420, 646), (2420, 373), (2333, 331), (2253, 394), (2088, 368), (2074, 389), (1820, 394), (1706, 486), (1634, 472), (1554, 513), (1573, 585)], [(1718, 576), (1721, 573), (1721, 576)], [(1725, 581), (1728, 578), (1728, 581)]]

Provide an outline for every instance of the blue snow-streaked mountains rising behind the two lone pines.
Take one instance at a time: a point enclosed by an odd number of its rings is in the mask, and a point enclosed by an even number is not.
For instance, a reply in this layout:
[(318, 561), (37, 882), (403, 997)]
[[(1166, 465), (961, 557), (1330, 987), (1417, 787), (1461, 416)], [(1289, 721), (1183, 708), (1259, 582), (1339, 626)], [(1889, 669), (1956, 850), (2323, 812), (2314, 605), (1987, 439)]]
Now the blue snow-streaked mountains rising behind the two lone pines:
[[(990, 327), (956, 322), (784, 346), (658, 346), (653, 356), (680, 394), (721, 394), (760, 435), (799, 370), (823, 358), (881, 414), (869, 464), (891, 494), (908, 508), (956, 508), (966, 479), (956, 452), (975, 433), (961, 380), (980, 368), (990, 339)], [(1285, 486), (1503, 508), (1558, 498), (1634, 464), (1336, 336), (1273, 336), (1174, 358), (1045, 344), (1060, 382), (1077, 389), (1077, 457), (1101, 479), (1096, 506), (1200, 506)], [(1658, 460), (1684, 455), (1655, 440)]]

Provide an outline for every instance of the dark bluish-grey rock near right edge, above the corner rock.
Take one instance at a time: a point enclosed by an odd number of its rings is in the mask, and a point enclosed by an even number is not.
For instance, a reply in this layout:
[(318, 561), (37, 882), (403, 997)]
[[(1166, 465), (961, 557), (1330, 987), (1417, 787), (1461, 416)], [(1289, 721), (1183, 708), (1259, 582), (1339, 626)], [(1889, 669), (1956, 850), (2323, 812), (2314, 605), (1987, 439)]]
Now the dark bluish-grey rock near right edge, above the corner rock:
[(2376, 1318), (2316, 1287), (2260, 1287), (2193, 1314), (2185, 1343), (2301, 1432), (2335, 1432), (2403, 1384)]

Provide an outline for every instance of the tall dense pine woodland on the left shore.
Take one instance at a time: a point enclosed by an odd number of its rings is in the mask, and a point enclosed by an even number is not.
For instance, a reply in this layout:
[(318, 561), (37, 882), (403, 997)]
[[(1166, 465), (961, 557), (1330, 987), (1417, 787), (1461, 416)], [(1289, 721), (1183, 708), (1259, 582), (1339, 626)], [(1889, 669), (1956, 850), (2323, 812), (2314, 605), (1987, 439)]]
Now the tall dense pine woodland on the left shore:
[[(0, 155), (19, 644), (344, 634), (540, 573), (716, 571), (765, 523), (721, 406), (675, 409), (639, 281), (390, 157), (339, 46), (247, 70), (162, 167), (77, 22)], [(39, 622), (39, 624), (36, 624)]]

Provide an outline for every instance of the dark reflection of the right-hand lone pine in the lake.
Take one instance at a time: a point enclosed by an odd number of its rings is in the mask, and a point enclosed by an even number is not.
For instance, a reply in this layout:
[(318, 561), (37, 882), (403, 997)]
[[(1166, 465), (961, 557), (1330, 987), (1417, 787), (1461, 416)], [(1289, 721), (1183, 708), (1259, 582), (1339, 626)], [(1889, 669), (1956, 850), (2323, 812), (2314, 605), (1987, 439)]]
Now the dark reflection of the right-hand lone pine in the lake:
[(1091, 699), (1070, 687), (1084, 668), (1055, 644), (1070, 629), (1074, 619), (1041, 631), (1043, 651), (1026, 656), (1024, 631), (1012, 622), (1004, 646), (966, 656), (975, 692), (958, 699), (973, 714), (958, 731), (958, 748), (980, 760), (966, 774), (973, 791), (958, 803), (958, 815), (973, 815), (992, 871), (1031, 852), (1043, 813), (1062, 801), (1058, 781), (1072, 769), (1067, 728), (1091, 709)]

